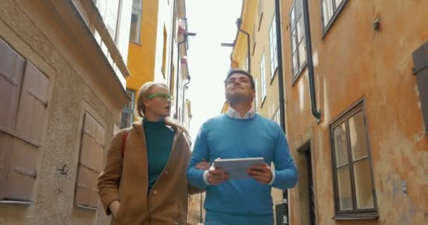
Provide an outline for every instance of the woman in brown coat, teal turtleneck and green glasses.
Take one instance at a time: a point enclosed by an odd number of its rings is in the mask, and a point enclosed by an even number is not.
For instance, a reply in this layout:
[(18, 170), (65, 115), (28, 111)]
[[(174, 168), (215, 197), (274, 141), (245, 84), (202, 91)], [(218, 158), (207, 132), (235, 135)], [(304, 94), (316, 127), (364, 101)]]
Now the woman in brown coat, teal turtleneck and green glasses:
[(187, 183), (187, 131), (167, 118), (170, 108), (168, 86), (146, 83), (137, 100), (142, 120), (113, 136), (98, 183), (111, 224), (186, 223), (187, 195), (201, 191)]

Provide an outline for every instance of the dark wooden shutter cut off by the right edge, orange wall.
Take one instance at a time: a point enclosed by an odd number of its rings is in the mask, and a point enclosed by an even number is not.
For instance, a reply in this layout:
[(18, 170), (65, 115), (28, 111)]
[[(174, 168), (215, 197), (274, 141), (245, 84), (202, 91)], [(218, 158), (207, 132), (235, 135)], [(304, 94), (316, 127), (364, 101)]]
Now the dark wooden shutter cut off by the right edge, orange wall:
[(420, 103), (425, 122), (425, 131), (428, 134), (428, 42), (413, 52), (413, 74), (416, 75), (417, 89), (419, 89)]

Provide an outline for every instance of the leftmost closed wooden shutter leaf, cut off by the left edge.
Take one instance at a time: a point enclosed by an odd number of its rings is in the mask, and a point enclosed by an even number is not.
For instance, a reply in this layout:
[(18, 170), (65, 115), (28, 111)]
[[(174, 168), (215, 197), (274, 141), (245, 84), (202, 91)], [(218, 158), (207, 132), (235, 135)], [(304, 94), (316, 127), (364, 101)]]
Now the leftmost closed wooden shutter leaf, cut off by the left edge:
[(10, 198), (6, 181), (25, 60), (0, 39), (0, 200)]

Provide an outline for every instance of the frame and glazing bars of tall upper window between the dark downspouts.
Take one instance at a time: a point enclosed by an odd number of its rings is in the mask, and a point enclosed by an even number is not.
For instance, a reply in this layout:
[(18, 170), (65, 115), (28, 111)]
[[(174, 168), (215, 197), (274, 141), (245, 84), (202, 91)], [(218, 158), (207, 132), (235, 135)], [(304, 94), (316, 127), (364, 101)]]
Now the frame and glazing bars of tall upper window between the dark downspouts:
[[(296, 15), (296, 1), (299, 1), (301, 4), (303, 4), (301, 2), (301, 0), (294, 0), (293, 1), (293, 5), (291, 6), (291, 10), (289, 13), (289, 27), (290, 27), (290, 50), (291, 50), (291, 75), (292, 77), (292, 84), (294, 84), (296, 82), (296, 80), (298, 79), (298, 77), (301, 76), (301, 74), (303, 73), (303, 70), (305, 70), (307, 62), (308, 62), (308, 58), (306, 58), (305, 56), (305, 61), (302, 63), (300, 62), (300, 51), (299, 51), (299, 46), (300, 44), (304, 45), (304, 48), (306, 49), (306, 32), (303, 29), (303, 35), (302, 35), (302, 39), (298, 40), (298, 31), (297, 31), (297, 27), (298, 27), (298, 20), (301, 19), (303, 20), (303, 26), (305, 25), (306, 21), (304, 21), (304, 16), (303, 16), (303, 6), (302, 6), (302, 12), (301, 14), (297, 17)], [(291, 15), (292, 13), (294, 13), (294, 24), (291, 24)], [(293, 32), (294, 30), (296, 30), (296, 42), (293, 44)], [(296, 49), (295, 51), (293, 51), (293, 45), (296, 45)], [(297, 70), (294, 71), (294, 55), (296, 54), (296, 63), (298, 64), (297, 66)]]

